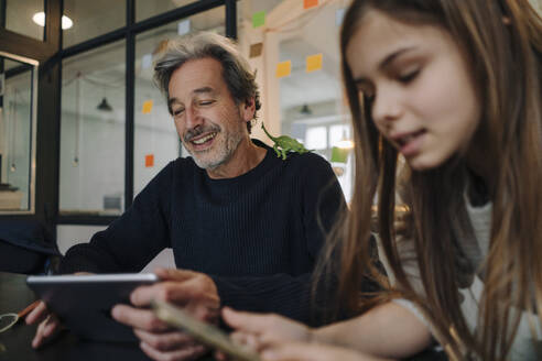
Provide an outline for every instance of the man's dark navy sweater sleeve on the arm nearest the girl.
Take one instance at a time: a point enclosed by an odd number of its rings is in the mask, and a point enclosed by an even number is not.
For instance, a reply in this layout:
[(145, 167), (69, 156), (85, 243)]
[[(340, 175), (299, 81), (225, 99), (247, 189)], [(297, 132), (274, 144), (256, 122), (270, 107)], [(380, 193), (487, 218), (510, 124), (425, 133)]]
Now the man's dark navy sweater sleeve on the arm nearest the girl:
[[(303, 203), (304, 238), (314, 265), (328, 231), (346, 209), (346, 203), (329, 164), (317, 155), (312, 154), (311, 157), (301, 171), (300, 176), (304, 179), (299, 199)], [(312, 273), (212, 277), (223, 305), (249, 311), (277, 313), (313, 326), (321, 324), (318, 315), (312, 313)]]

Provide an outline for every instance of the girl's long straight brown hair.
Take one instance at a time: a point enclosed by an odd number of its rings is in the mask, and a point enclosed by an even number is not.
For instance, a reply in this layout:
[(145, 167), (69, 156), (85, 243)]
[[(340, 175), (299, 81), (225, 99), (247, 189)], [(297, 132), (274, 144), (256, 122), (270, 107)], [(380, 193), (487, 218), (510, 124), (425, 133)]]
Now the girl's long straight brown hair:
[[(464, 205), (467, 172), (462, 154), (438, 168), (411, 172), (403, 190), (411, 206), (423, 296), (402, 267), (393, 228), (398, 154), (373, 125), (370, 100), (359, 97), (346, 62), (348, 43), (369, 9), (403, 22), (442, 26), (471, 66), (483, 109), (477, 134), (483, 134), (496, 179), (488, 195), (492, 226), (476, 335), (468, 330), (458, 295), (457, 240), (474, 237)], [(513, 309), (536, 311), (535, 305), (542, 306), (541, 19), (527, 0), (354, 0), (344, 18), (340, 50), (356, 180), (350, 211), (335, 229), (317, 272), (338, 255), (338, 299), (347, 307), (359, 304), (355, 291), (371, 263), (371, 205), (378, 192), (378, 232), (402, 296), (432, 316), (441, 341), (454, 352), (466, 348), (484, 360), (505, 359), (520, 320)], [(539, 317), (542, 320), (542, 313)]]

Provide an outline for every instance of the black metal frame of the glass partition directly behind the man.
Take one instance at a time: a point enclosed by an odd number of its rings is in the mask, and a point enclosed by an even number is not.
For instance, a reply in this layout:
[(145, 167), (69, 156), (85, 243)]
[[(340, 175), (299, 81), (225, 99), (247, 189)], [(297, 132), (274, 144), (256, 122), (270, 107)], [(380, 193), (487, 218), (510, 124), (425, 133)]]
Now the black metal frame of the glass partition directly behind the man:
[[(59, 52), (61, 63), (67, 57), (82, 54), (84, 52), (117, 42), (126, 41), (126, 129), (124, 129), (124, 194), (123, 203), (126, 210), (132, 204), (133, 199), (133, 179), (134, 179), (134, 77), (136, 77), (136, 36), (142, 32), (160, 28), (164, 23), (180, 21), (185, 18), (212, 10), (218, 7), (225, 9), (225, 28), (226, 35), (229, 37), (237, 36), (237, 0), (194, 0), (193, 2), (162, 13), (140, 22), (136, 22), (136, 0), (126, 0), (127, 23), (126, 26), (117, 29), (107, 34), (90, 39), (79, 44), (66, 47)], [(62, 64), (61, 64), (62, 74)], [(62, 84), (62, 79), (59, 81)], [(62, 89), (58, 89), (61, 92)], [(62, 100), (61, 100), (62, 102)], [(61, 150), (62, 152), (62, 150)], [(59, 161), (59, 157), (58, 157)], [(59, 180), (59, 179), (58, 179)], [(59, 182), (57, 187), (59, 187)], [(59, 195), (59, 189), (57, 188)], [(108, 225), (117, 216), (96, 216), (93, 214), (85, 215), (63, 215), (56, 209), (57, 225)]]

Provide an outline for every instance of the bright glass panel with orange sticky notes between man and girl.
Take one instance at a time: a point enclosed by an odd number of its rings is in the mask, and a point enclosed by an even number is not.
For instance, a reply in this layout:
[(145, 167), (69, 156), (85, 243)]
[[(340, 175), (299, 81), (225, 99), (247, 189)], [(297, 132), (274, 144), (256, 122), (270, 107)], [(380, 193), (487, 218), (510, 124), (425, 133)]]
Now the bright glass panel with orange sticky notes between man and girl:
[[(264, 83), (262, 118), (268, 129), (300, 140), (329, 161), (349, 201), (354, 169), (343, 142), (351, 139), (338, 44), (348, 3), (241, 0), (238, 29), (246, 54), (263, 74), (258, 81)], [(251, 52), (259, 43), (263, 51)]]

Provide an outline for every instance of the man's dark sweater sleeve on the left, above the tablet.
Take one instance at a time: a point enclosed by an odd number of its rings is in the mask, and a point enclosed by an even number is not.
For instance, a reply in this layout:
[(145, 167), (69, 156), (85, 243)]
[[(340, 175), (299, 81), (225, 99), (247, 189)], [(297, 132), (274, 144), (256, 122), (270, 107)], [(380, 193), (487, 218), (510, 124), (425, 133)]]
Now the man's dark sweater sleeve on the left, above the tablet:
[(59, 272), (139, 272), (170, 247), (173, 165), (162, 169), (106, 230), (94, 234), (88, 243), (72, 247), (61, 261)]

